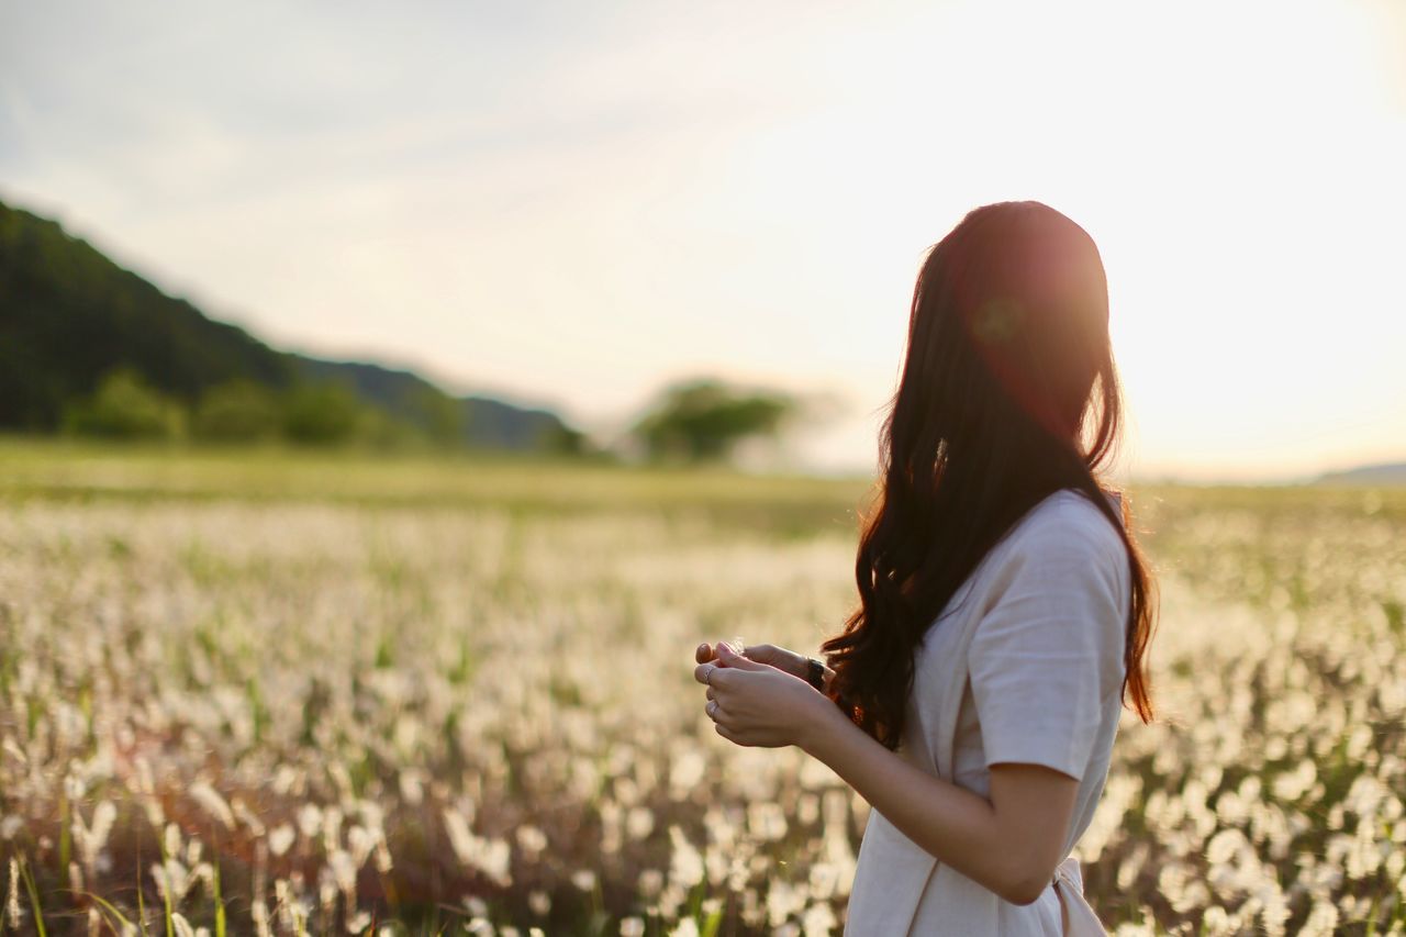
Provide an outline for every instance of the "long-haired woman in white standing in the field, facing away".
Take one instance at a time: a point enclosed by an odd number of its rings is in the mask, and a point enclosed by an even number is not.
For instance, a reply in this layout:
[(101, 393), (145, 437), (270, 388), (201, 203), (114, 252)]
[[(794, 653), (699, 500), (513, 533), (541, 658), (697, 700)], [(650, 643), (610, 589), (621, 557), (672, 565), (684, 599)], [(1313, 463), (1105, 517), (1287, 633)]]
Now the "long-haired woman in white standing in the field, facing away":
[(1094, 241), (1036, 201), (976, 208), (918, 274), (828, 665), (699, 646), (718, 734), (800, 746), (872, 805), (846, 934), (1104, 933), (1070, 851), (1122, 706), (1152, 718), (1154, 618), (1099, 481), (1118, 432)]

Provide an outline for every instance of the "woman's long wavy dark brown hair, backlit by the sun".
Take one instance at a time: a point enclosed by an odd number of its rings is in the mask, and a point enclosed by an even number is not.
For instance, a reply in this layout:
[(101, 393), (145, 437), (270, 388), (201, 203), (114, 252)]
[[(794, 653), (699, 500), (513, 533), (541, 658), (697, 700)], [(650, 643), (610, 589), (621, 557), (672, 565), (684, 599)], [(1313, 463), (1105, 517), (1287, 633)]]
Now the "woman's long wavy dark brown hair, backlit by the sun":
[(1038, 201), (967, 212), (918, 273), (855, 560), (859, 606), (823, 644), (835, 670), (828, 694), (856, 725), (898, 746), (928, 627), (1015, 522), (1063, 488), (1084, 492), (1126, 546), (1122, 698), (1152, 719), (1143, 657), (1154, 582), (1126, 498), (1119, 516), (1102, 495), (1121, 418), (1094, 239)]

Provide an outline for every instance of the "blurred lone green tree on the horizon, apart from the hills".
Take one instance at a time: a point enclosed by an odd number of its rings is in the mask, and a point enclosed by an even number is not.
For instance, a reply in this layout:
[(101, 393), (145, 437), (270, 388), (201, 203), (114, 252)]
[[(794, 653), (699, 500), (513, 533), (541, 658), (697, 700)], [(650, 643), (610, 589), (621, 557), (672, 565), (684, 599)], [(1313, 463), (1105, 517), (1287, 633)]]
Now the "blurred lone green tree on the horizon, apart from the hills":
[(796, 411), (787, 394), (697, 378), (666, 388), (631, 433), (652, 459), (721, 460), (744, 439), (775, 436)]

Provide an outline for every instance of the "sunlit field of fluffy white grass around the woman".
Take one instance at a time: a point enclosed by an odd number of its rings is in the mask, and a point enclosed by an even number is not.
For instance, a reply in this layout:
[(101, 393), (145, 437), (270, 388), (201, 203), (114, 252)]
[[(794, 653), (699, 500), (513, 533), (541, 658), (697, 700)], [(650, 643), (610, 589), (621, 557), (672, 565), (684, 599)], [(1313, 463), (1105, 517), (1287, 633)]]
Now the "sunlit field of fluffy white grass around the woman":
[[(0, 445), (0, 930), (838, 933), (866, 806), (718, 739), (814, 653), (860, 481)], [(1143, 488), (1125, 934), (1406, 933), (1406, 491)]]

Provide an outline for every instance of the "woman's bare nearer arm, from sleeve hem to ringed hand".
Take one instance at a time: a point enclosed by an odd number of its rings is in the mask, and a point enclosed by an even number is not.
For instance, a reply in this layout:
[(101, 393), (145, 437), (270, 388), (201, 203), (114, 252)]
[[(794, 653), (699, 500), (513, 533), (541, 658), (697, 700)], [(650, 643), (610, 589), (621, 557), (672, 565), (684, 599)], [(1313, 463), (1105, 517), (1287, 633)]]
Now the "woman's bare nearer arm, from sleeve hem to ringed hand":
[(1049, 885), (1063, 858), (1076, 778), (1036, 764), (993, 764), (987, 799), (883, 747), (803, 680), (724, 646), (718, 663), (700, 664), (695, 677), (709, 684), (720, 736), (799, 746), (938, 861), (1008, 902), (1028, 905)]

